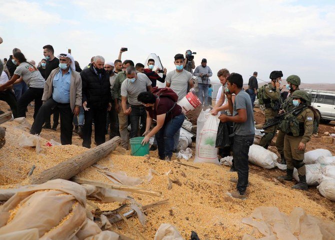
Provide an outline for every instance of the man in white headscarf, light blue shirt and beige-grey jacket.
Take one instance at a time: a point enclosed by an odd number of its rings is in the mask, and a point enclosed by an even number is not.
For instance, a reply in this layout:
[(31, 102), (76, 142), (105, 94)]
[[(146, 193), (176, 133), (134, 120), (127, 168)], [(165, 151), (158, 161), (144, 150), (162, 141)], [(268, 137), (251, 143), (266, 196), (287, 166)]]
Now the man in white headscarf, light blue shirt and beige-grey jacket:
[(47, 78), (42, 96), (43, 105), (31, 126), (31, 134), (39, 134), (51, 111), (57, 108), (60, 114), (60, 142), (72, 144), (72, 119), (81, 106), (81, 77), (75, 71), (74, 59), (70, 54), (60, 54), (59, 67)]

